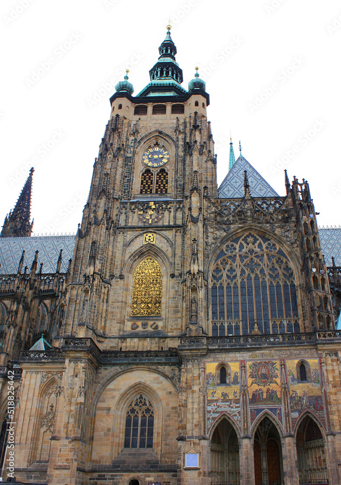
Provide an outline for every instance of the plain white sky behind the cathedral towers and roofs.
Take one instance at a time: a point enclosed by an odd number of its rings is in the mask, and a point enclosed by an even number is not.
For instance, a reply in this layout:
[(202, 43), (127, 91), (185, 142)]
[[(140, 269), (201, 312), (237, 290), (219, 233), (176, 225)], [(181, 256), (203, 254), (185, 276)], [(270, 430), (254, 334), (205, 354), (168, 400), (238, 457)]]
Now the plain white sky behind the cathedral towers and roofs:
[[(184, 0), (171, 7), (153, 0), (2, 0), (0, 225), (34, 165), (34, 234), (76, 231), (109, 97), (126, 67), (135, 95), (149, 82), (169, 19), (183, 86), (196, 65), (202, 77), (212, 71), (205, 81), (218, 183), (227, 173), (231, 130), (236, 158), (241, 139), (244, 157), (280, 195), (284, 168), (290, 181), (306, 178), (319, 224), (339, 226), (338, 0)], [(38, 68), (42, 75), (33, 78)]]

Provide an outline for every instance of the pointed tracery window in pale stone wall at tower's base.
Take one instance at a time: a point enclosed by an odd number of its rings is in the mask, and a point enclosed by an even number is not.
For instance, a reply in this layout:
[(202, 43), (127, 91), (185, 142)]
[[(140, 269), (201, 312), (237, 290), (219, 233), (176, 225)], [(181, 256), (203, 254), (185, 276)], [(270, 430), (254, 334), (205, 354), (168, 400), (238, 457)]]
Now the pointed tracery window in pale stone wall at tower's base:
[(139, 394), (127, 410), (124, 448), (153, 448), (153, 428), (153, 406), (145, 396)]

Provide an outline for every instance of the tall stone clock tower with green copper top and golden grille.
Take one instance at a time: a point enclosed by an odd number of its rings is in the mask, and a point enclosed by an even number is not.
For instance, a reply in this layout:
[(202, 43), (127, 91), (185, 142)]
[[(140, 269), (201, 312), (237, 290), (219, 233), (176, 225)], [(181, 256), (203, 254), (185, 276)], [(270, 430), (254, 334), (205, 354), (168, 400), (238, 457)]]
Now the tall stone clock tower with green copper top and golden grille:
[(110, 98), (65, 326), (104, 347), (168, 348), (206, 332), (202, 208), (204, 193), (217, 197), (216, 159), (205, 82), (196, 68), (182, 86), (176, 52), (168, 26), (147, 86), (134, 97), (127, 71)]

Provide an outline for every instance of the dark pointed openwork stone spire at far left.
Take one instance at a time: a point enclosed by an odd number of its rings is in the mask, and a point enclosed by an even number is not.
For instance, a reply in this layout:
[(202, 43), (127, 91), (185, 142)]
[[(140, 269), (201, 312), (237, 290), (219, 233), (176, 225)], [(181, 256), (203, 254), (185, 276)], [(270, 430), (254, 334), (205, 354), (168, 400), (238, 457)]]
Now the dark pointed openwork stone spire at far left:
[(22, 238), (31, 236), (33, 228), (33, 220), (30, 223), (33, 172), (34, 168), (32, 167), (30, 175), (19, 195), (16, 207), (5, 217), (0, 234), (1, 238)]

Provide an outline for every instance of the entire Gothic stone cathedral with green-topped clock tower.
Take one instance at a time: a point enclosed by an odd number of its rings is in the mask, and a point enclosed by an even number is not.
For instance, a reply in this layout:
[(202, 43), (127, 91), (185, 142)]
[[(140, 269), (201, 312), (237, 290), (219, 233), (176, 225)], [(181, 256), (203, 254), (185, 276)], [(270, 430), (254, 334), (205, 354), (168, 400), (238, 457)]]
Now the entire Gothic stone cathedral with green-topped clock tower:
[(34, 168), (2, 226), (2, 480), (340, 485), (341, 228), (232, 140), (218, 187), (205, 82), (170, 26), (158, 50), (110, 98), (77, 233), (34, 236)]

